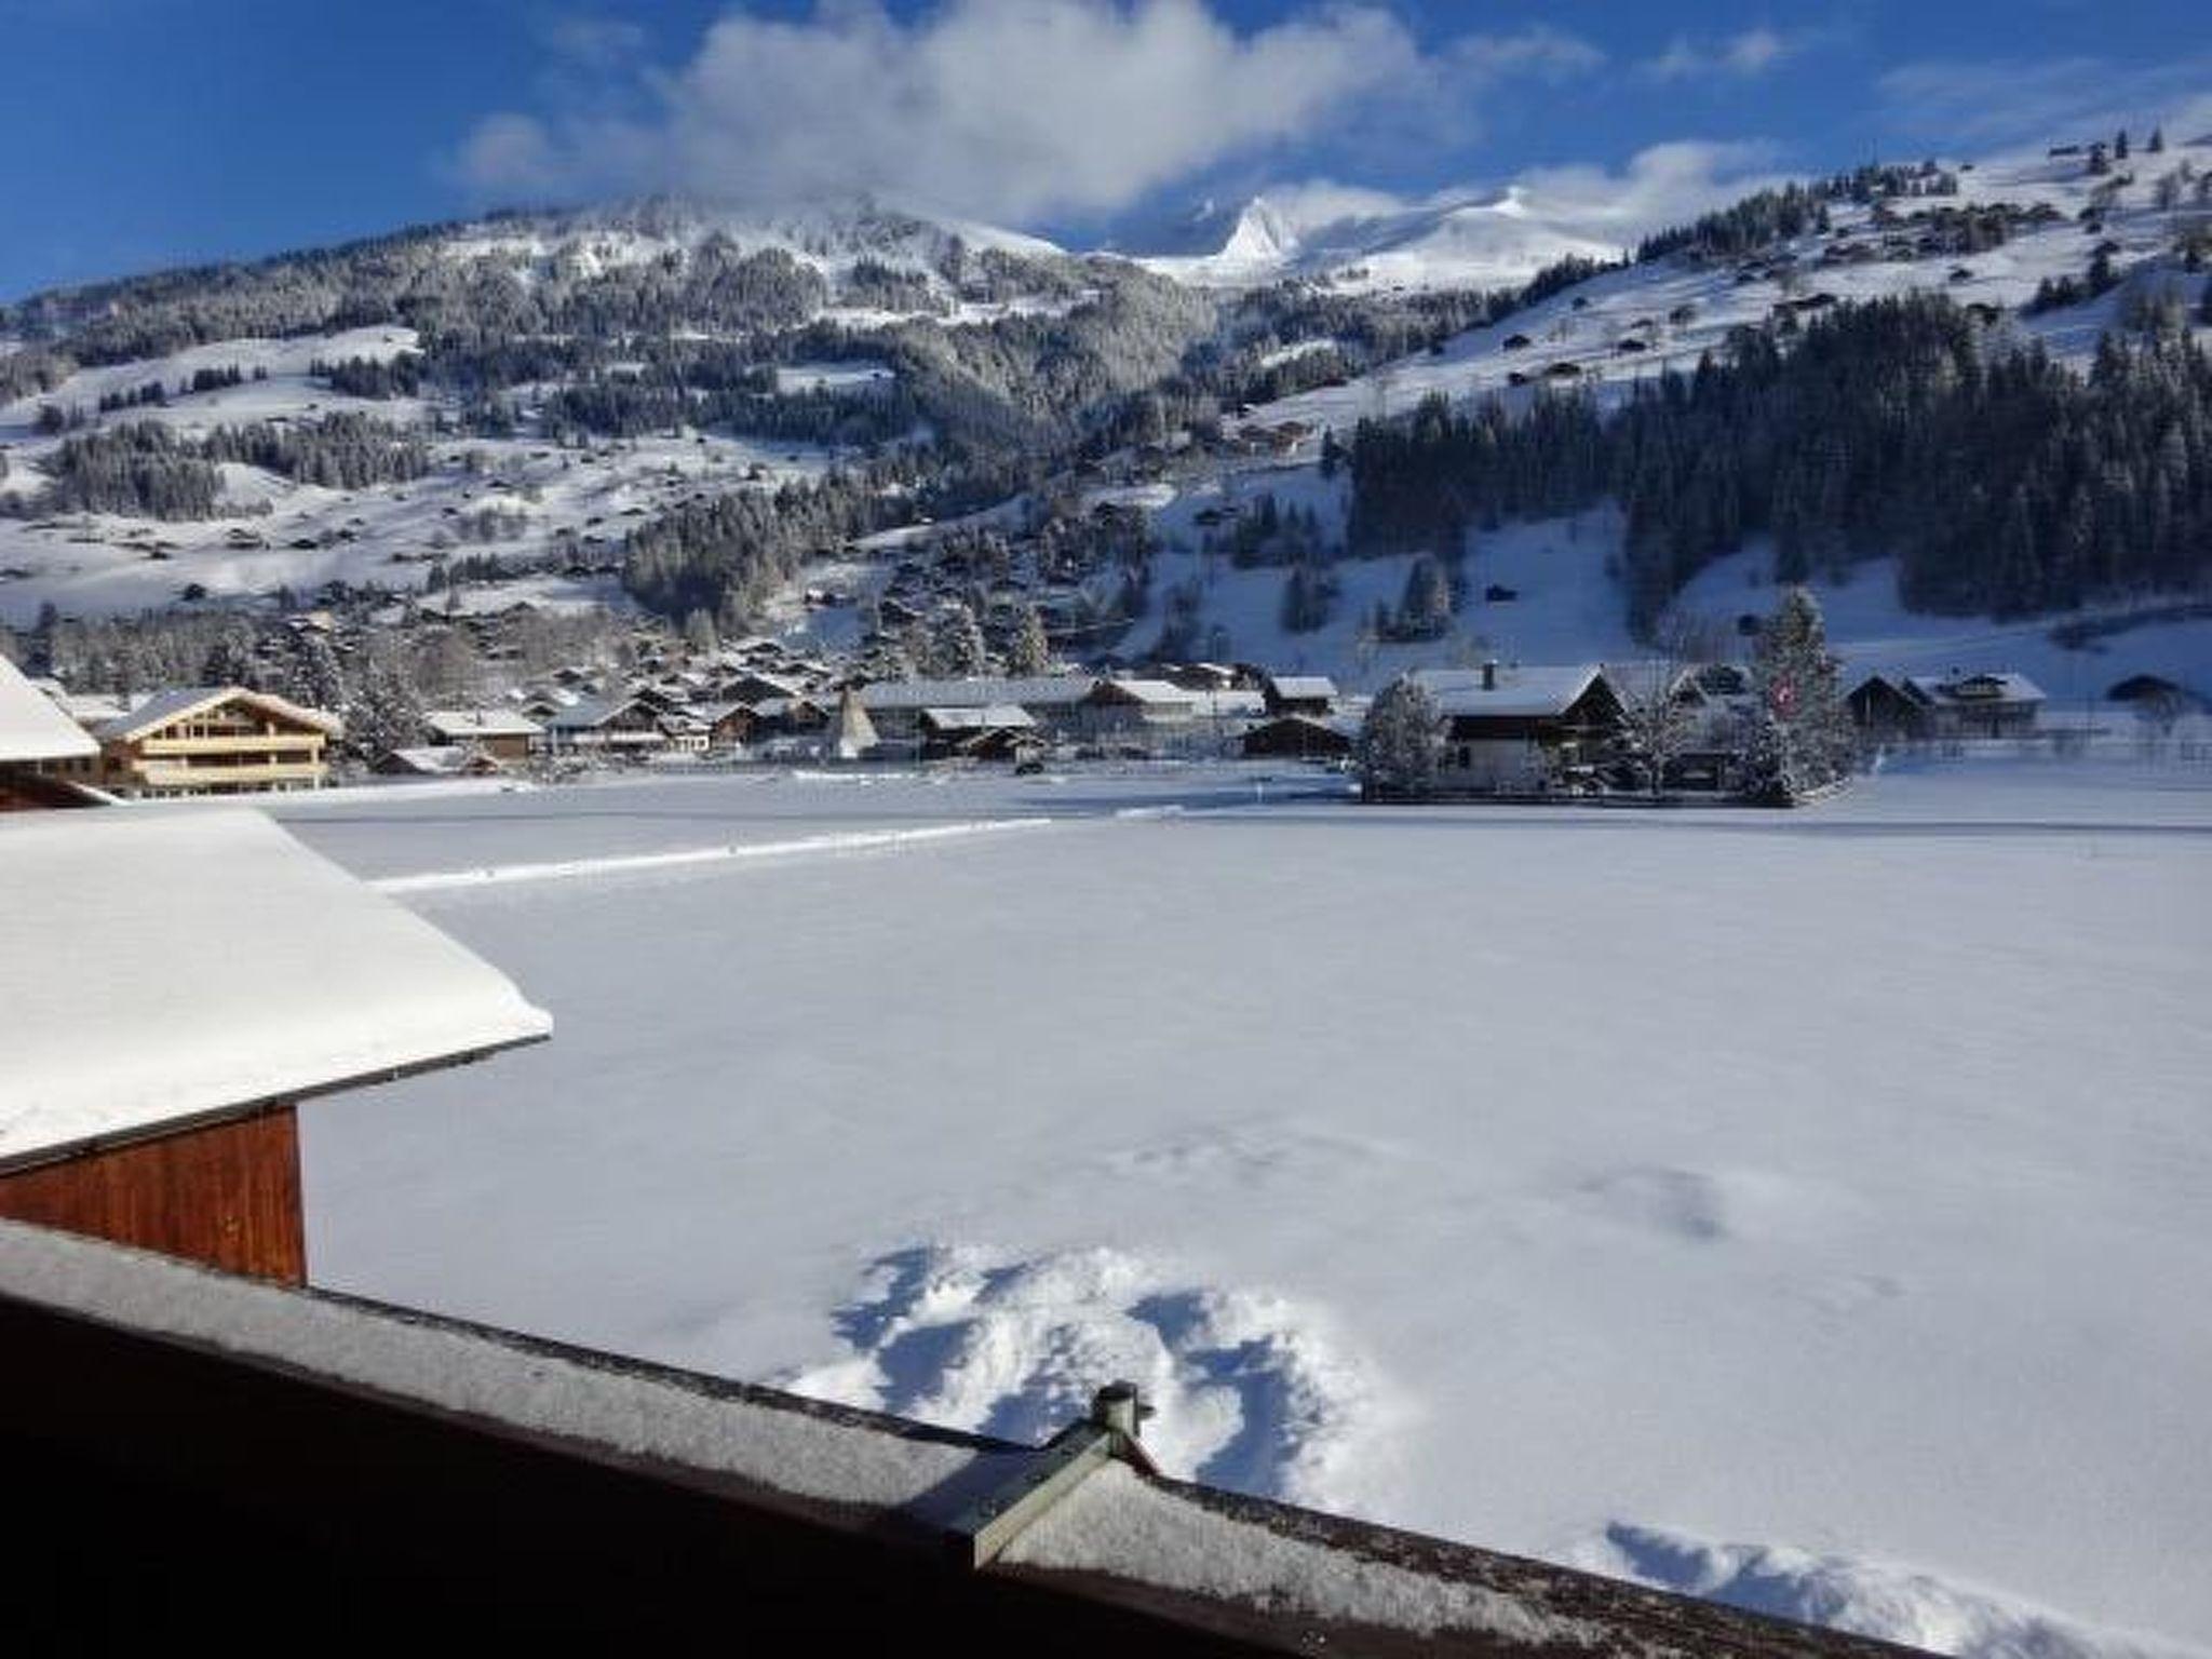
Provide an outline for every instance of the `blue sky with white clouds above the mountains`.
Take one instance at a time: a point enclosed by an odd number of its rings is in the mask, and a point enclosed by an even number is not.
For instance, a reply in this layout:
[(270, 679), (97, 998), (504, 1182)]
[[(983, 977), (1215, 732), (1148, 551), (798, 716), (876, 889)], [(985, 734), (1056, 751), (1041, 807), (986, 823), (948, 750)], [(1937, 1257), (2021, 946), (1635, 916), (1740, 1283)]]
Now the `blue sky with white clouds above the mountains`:
[(1767, 173), (2212, 115), (2201, 24), (2181, 0), (0, 0), (0, 296), (653, 188), (874, 188), (1073, 241), (1314, 179), (1619, 184), (1666, 217)]

